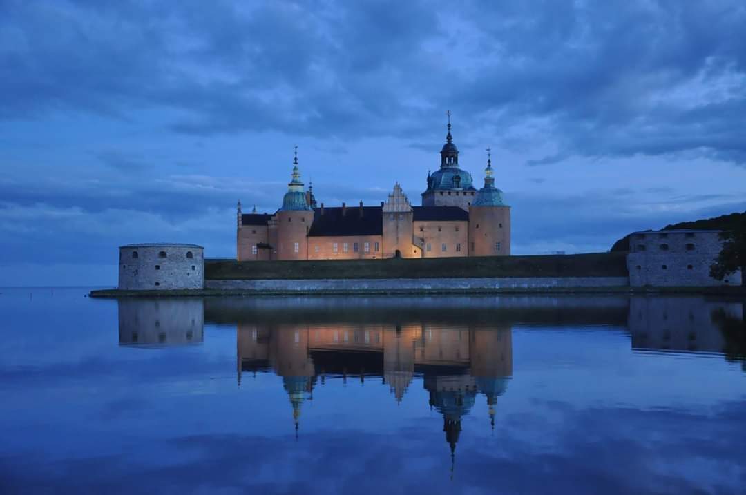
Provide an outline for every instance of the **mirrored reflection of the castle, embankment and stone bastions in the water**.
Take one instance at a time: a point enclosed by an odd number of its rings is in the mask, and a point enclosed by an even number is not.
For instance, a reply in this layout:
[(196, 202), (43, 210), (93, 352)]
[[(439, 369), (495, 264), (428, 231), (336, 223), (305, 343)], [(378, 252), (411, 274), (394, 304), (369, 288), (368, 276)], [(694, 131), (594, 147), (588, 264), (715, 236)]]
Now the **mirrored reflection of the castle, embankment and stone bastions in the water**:
[(721, 353), (744, 366), (744, 313), (742, 301), (703, 297), (127, 299), (119, 344), (198, 344), (204, 321), (235, 325), (239, 384), (242, 373), (281, 376), (296, 433), (304, 401), (329, 376), (380, 379), (397, 401), (421, 378), (453, 455), (464, 416), (494, 426), (514, 328), (603, 327), (628, 332), (638, 352)]

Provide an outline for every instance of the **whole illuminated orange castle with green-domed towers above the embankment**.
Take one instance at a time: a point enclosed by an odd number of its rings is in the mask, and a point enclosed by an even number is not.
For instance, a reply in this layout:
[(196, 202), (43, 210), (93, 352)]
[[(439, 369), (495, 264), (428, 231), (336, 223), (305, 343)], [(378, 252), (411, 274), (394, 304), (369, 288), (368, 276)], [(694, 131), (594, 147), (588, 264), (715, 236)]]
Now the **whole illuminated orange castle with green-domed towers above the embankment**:
[(451, 119), (440, 168), (427, 175), (422, 205), (412, 206), (398, 183), (380, 206), (317, 206), (305, 190), (296, 147), (292, 180), (274, 214), (236, 215), (239, 261), (269, 259), (374, 259), (510, 255), (510, 206), (495, 187), (487, 158), (483, 188), (459, 167)]

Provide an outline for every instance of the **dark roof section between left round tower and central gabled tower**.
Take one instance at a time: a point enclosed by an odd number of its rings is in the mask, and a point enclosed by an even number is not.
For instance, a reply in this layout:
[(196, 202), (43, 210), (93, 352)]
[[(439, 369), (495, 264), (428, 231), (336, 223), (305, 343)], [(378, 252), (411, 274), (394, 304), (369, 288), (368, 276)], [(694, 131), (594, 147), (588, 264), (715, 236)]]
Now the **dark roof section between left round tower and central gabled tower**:
[(380, 236), (383, 234), (383, 221), (380, 206), (348, 206), (347, 214), (342, 216), (342, 208), (313, 209), (313, 224), (308, 232), (309, 237), (319, 236)]

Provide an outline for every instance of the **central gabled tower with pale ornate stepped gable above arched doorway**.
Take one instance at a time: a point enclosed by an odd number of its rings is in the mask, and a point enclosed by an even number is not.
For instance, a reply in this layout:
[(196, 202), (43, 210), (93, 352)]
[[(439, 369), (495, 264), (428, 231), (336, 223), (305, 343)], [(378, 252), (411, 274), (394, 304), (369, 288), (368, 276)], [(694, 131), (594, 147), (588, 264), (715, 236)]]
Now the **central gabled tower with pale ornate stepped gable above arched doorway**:
[[(413, 210), (407, 196), (395, 183), (394, 191), (383, 204), (383, 257), (413, 258)], [(419, 251), (419, 250), (418, 250)]]

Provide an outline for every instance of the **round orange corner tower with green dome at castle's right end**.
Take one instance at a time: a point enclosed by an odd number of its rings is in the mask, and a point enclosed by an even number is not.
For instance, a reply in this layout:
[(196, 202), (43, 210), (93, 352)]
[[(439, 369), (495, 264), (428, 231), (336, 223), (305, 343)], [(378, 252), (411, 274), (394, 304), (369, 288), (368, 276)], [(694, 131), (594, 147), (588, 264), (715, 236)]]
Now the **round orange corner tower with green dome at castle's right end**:
[(477, 192), (468, 210), (468, 254), (509, 256), (510, 206), (503, 203), (503, 192), (495, 187), (489, 148), (484, 173), (484, 187)]

